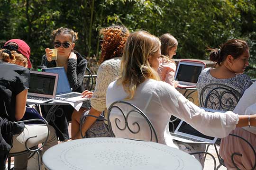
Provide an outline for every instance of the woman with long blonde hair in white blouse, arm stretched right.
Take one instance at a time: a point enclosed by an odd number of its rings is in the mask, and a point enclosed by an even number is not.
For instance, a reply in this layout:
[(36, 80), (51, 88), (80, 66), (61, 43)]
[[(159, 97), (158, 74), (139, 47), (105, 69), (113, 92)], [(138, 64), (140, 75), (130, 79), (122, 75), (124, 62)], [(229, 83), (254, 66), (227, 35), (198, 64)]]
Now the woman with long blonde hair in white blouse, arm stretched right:
[[(160, 46), (159, 39), (146, 31), (134, 32), (128, 36), (121, 61), (121, 76), (110, 83), (107, 90), (107, 109), (113, 102), (120, 100), (134, 104), (143, 110), (152, 122), (159, 143), (180, 149), (183, 149), (181, 143), (174, 144), (169, 133), (168, 121), (172, 115), (186, 121), (207, 136), (225, 137), (235, 127), (248, 125), (248, 115), (239, 116), (231, 111), (224, 114), (207, 112), (187, 100), (174, 86), (159, 81), (156, 70), (161, 56)], [(128, 108), (123, 108), (123, 111), (126, 110)], [(112, 114), (121, 113), (113, 110)], [(111, 117), (110, 121), (113, 121)], [(251, 126), (252, 123), (256, 126), (256, 115), (250, 116), (250, 123)], [(115, 128), (113, 131), (116, 136), (133, 138), (131, 133), (120, 133)], [(141, 127), (137, 135), (140, 136), (140, 140), (147, 140), (147, 134), (148, 132)], [(183, 145), (189, 147), (188, 144)], [(193, 147), (185, 148), (183, 151), (198, 151)]]

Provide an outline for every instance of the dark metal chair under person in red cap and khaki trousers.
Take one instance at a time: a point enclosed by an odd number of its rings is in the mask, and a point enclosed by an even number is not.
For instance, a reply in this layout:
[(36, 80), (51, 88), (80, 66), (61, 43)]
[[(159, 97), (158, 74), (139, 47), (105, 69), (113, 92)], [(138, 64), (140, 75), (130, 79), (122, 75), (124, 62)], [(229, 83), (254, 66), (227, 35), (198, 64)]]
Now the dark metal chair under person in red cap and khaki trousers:
[(40, 156), (39, 150), (46, 144), (46, 142), (48, 140), (48, 137), (49, 137), (49, 132), (50, 131), (49, 131), (49, 125), (48, 125), (47, 121), (42, 120), (42, 119), (30, 119), (30, 120), (17, 121), (15, 123), (27, 123), (27, 122), (38, 122), (38, 121), (46, 124), (46, 126), (47, 126), (48, 132), (47, 132), (47, 137), (46, 137), (45, 142), (41, 145), (41, 147), (33, 146), (32, 148), (29, 148), (27, 146), (28, 140), (30, 138), (34, 138), (34, 137), (37, 137), (37, 136), (31, 136), (31, 137), (27, 138), (27, 140), (25, 142), (25, 147), (26, 147), (27, 150), (22, 151), (22, 152), (18, 152), (18, 153), (9, 153), (9, 155), (8, 155), (8, 170), (11, 170), (11, 168), (10, 168), (11, 157), (26, 154), (26, 153), (32, 153), (30, 157), (32, 157), (35, 153), (37, 153), (38, 170), (41, 170), (41, 166), (40, 166), (41, 165), (41, 156)]

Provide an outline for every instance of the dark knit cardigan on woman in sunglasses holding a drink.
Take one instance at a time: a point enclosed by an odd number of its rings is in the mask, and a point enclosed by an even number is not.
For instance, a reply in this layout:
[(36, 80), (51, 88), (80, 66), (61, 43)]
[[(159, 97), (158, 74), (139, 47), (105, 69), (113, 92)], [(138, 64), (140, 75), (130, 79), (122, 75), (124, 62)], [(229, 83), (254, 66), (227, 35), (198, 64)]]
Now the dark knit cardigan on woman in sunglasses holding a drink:
[[(72, 91), (82, 93), (84, 91), (82, 80), (87, 67), (87, 60), (77, 51), (73, 52), (77, 59), (68, 59), (67, 77)], [(44, 64), (47, 68), (56, 67), (55, 60), (48, 61), (46, 55), (43, 55), (41, 64)]]

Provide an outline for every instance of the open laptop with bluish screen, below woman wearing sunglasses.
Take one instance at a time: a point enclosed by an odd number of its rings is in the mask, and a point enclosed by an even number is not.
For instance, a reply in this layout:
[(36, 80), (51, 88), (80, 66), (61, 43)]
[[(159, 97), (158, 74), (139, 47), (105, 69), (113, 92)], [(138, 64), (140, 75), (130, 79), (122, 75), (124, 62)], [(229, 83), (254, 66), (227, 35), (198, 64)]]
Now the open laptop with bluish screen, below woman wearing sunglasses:
[(55, 99), (68, 102), (83, 102), (89, 100), (87, 97), (82, 98), (82, 93), (72, 92), (64, 67), (42, 68), (42, 71), (59, 75)]

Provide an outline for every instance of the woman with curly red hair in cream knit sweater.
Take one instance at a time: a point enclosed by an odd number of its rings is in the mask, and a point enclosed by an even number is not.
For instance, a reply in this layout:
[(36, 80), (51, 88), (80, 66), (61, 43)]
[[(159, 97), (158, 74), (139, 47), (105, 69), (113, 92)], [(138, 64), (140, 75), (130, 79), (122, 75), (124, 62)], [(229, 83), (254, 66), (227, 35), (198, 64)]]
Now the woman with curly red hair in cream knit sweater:
[[(125, 26), (109, 26), (100, 31), (103, 37), (101, 41), (101, 58), (99, 59), (100, 67), (97, 72), (96, 86), (91, 97), (91, 110), (88, 114), (100, 116), (103, 111), (107, 113), (106, 92), (108, 85), (115, 80), (120, 73), (120, 61), (123, 55), (125, 42), (128, 38), (129, 31)], [(84, 91), (83, 95), (90, 96), (92, 93)], [(82, 138), (80, 132), (80, 118), (84, 108), (74, 111), (72, 115), (72, 139)], [(95, 122), (95, 118), (87, 117), (82, 125), (82, 134)]]

